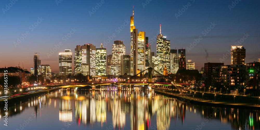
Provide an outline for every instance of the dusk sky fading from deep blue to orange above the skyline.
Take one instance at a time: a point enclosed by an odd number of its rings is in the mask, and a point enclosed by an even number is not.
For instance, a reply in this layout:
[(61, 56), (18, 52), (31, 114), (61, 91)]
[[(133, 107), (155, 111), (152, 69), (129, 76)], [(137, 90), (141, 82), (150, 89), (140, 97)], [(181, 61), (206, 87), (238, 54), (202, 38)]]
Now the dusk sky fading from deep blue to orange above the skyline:
[[(59, 1), (59, 0), (57, 0)], [(236, 1), (109, 1), (105, 0), (94, 14), (89, 14), (93, 8), (100, 3), (96, 1), (69, 1), (63, 0), (56, 3), (55, 0), (48, 1), (21, 1), (10, 4), (10, 0), (1, 0), (0, 8), (0, 67), (22, 66), (30, 70), (33, 67), (34, 52), (39, 52), (42, 64), (50, 64), (52, 72), (59, 72), (59, 52), (71, 49), (74, 57), (76, 45), (92, 43), (99, 48), (100, 44), (107, 41), (109, 36), (112, 42), (104, 44), (107, 55), (112, 54), (114, 40), (124, 41), (126, 53), (130, 53), (130, 21), (134, 6), (134, 24), (138, 31), (146, 31), (149, 37), (151, 51), (156, 52), (156, 36), (160, 31), (171, 41), (171, 49), (186, 49), (186, 61), (195, 62), (200, 70), (206, 62), (220, 62), (223, 54), (228, 53), (231, 45), (243, 38), (244, 33), (249, 36), (242, 44), (246, 49), (245, 63), (257, 61), (260, 58), (260, 1), (241, 0)], [(190, 2), (187, 9), (183, 6)], [(194, 3), (193, 3), (194, 2)], [(235, 2), (235, 0), (233, 1)], [(142, 4), (143, 3), (143, 4)], [(145, 5), (145, 3), (148, 3)], [(10, 8), (6, 5), (11, 5)], [(231, 8), (230, 10), (230, 6)], [(92, 8), (93, 7), (93, 8)], [(6, 9), (6, 10), (5, 10)], [(179, 10), (184, 12), (176, 18)], [(44, 19), (32, 30), (31, 24), (37, 22), (38, 17)], [(40, 21), (39, 21), (40, 22)], [(215, 23), (205, 36), (202, 31)], [(36, 25), (37, 25), (36, 24)], [(122, 26), (121, 26), (122, 25)], [(123, 29), (116, 30), (118, 27)], [(212, 26), (211, 26), (212, 27)], [(70, 33), (71, 28), (76, 31), (65, 42), (62, 38)], [(30, 33), (18, 44), (17, 38), (22, 37), (26, 31)], [(202, 36), (189, 52), (187, 47), (194, 42), (194, 38)], [(155, 38), (155, 39), (154, 39)], [(109, 40), (108, 40), (109, 41)], [(50, 49), (62, 42), (53, 55)], [(223, 61), (225, 65), (230, 64), (230, 56)]]

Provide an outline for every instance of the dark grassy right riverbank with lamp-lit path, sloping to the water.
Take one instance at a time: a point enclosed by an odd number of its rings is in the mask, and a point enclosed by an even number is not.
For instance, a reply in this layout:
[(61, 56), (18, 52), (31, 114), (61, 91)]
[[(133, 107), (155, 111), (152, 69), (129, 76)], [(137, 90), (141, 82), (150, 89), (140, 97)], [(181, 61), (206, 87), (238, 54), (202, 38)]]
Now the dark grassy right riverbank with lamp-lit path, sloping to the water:
[[(205, 106), (216, 106), (216, 107), (229, 107), (229, 108), (243, 108), (243, 109), (256, 109), (259, 110), (260, 106), (259, 104), (256, 103), (252, 103), (252, 102), (256, 102), (256, 98), (254, 99), (245, 99), (242, 100), (241, 98), (239, 98), (239, 100), (235, 100), (236, 98), (234, 98), (234, 100), (230, 100), (230, 99), (223, 99), (224, 97), (222, 95), (218, 95), (217, 94), (213, 94), (213, 99), (209, 98), (207, 96), (211, 96), (211, 95), (204, 95), (204, 93), (200, 94), (197, 93), (196, 94), (178, 94), (178, 93), (174, 93), (174, 92), (170, 92), (170, 91), (154, 91), (157, 94), (161, 94), (167, 97), (173, 97), (176, 98), (180, 101), (185, 101), (185, 102), (189, 102), (195, 105), (205, 105)], [(202, 95), (204, 97), (202, 97)], [(215, 96), (214, 96), (215, 95)], [(217, 99), (216, 99), (217, 96)], [(221, 96), (221, 98), (219, 98)], [(212, 97), (212, 96), (211, 96)], [(214, 99), (215, 97), (215, 99)], [(239, 96), (237, 96), (239, 97)], [(258, 100), (257, 100), (258, 101)], [(257, 102), (258, 103), (258, 102)]]

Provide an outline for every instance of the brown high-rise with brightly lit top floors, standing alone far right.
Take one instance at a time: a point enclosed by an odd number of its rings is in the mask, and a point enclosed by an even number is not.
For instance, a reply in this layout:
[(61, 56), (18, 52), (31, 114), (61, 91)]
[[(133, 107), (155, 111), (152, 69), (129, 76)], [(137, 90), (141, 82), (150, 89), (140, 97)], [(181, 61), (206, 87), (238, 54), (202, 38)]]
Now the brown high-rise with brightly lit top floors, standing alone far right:
[(231, 64), (245, 64), (245, 48), (231, 46)]

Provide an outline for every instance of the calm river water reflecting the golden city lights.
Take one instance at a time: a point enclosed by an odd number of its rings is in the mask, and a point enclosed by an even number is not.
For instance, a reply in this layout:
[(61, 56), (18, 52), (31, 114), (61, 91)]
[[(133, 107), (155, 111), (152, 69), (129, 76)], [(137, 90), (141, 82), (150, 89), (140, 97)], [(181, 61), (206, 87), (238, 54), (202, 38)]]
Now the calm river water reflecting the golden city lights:
[[(124, 89), (124, 88), (123, 88)], [(8, 105), (1, 130), (259, 129), (259, 110), (193, 105), (139, 88), (56, 90)]]

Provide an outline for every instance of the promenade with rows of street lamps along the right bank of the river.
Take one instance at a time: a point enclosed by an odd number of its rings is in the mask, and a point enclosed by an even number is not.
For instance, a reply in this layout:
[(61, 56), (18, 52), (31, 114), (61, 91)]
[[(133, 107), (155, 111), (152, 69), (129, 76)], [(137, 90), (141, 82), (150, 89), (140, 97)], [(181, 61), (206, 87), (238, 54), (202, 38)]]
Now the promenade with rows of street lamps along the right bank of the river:
[(178, 90), (157, 90), (155, 91), (155, 93), (168, 97), (174, 97), (181, 101), (190, 102), (192, 104), (218, 107), (260, 109), (259, 97), (202, 93), (193, 91), (187, 91), (184, 94), (180, 94)]

